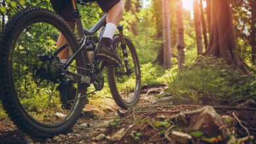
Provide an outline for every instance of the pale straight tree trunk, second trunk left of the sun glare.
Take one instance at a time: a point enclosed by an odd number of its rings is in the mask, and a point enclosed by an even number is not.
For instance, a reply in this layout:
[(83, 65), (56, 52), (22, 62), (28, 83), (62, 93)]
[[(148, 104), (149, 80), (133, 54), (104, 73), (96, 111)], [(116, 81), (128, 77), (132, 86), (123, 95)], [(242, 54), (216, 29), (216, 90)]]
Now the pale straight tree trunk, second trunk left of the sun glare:
[(171, 22), (169, 0), (162, 0), (163, 13), (163, 67), (171, 68)]

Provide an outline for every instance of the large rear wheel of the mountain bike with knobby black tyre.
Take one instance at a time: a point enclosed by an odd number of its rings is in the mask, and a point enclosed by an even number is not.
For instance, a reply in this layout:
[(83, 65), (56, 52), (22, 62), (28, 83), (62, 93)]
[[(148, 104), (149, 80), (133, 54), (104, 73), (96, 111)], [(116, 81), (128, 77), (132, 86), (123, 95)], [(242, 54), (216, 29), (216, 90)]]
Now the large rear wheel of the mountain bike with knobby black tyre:
[[(64, 50), (76, 52), (79, 43), (62, 18), (46, 9), (30, 9), (16, 14), (1, 38), (3, 107), (18, 128), (33, 136), (53, 137), (68, 132), (85, 105), (85, 98), (79, 98), (85, 95), (85, 84), (69, 84), (71, 92), (61, 91), (56, 77), (62, 63), (58, 58), (47, 59), (58, 49), (60, 33), (66, 39), (60, 44), (67, 46)], [(85, 74), (77, 68), (86, 65), (83, 54), (72, 65), (68, 71)], [(62, 107), (65, 101), (60, 97), (65, 94), (74, 95), (69, 109)]]

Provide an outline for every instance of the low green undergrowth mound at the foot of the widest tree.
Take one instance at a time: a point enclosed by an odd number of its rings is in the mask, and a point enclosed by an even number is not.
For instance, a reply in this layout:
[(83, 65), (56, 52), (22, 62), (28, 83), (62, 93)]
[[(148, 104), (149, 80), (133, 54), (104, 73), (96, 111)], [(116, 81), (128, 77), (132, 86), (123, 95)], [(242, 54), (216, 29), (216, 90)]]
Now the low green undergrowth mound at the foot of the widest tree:
[(190, 67), (178, 73), (171, 69), (165, 74), (172, 94), (189, 98), (200, 104), (200, 97), (210, 96), (229, 102), (238, 99), (256, 99), (256, 78), (243, 75), (223, 59), (200, 57)]

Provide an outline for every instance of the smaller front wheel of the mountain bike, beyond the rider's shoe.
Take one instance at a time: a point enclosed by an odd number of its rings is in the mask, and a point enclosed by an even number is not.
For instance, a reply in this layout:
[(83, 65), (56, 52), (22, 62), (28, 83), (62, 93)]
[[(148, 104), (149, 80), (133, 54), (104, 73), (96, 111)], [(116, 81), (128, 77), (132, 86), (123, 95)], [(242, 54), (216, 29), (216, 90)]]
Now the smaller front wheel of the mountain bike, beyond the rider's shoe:
[(128, 109), (139, 101), (141, 76), (135, 46), (128, 37), (124, 38), (128, 58), (123, 56), (124, 49), (121, 48), (120, 35), (113, 37), (117, 54), (121, 58), (121, 67), (108, 68), (108, 84), (117, 105), (122, 109)]

